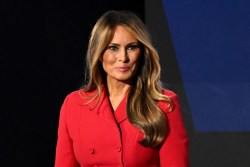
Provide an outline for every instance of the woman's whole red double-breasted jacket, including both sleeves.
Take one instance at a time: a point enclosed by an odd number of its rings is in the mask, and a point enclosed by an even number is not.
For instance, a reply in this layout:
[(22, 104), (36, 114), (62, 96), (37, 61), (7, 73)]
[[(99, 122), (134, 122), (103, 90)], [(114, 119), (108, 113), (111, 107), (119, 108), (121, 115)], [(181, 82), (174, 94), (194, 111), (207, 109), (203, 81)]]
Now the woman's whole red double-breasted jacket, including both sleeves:
[(167, 112), (167, 103), (159, 107), (168, 119), (170, 133), (163, 145), (143, 147), (139, 141), (143, 133), (126, 118), (124, 97), (112, 112), (105, 90), (96, 100), (86, 105), (81, 90), (69, 94), (61, 108), (55, 167), (188, 167), (188, 137), (184, 128), (177, 96), (171, 97), (174, 110)]

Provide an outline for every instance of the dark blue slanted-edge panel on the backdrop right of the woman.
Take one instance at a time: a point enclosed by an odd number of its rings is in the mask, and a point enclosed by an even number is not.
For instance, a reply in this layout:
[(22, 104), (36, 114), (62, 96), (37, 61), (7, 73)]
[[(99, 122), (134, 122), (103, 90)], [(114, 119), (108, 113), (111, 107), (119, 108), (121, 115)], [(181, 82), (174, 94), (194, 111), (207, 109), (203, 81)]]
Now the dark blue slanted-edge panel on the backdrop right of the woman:
[(195, 129), (250, 131), (250, 1), (163, 5)]

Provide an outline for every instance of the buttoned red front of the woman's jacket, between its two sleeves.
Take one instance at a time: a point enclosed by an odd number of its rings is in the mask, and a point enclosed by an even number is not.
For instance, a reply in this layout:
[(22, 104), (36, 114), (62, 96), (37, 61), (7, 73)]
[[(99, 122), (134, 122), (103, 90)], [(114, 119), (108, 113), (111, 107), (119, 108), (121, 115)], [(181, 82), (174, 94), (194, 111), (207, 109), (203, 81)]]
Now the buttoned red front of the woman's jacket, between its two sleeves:
[(81, 106), (74, 112), (68, 128), (82, 166), (158, 166), (158, 150), (139, 144), (143, 134), (126, 118), (125, 105), (118, 107), (116, 113), (109, 103), (102, 103), (95, 110)]

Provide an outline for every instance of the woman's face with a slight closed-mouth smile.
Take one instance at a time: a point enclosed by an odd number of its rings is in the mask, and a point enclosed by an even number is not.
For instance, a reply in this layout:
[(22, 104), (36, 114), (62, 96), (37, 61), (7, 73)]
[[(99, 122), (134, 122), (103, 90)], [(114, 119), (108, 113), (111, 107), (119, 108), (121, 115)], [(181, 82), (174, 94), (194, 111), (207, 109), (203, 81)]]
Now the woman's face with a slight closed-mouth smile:
[(130, 82), (137, 70), (140, 54), (139, 41), (123, 26), (117, 26), (102, 58), (107, 81)]

